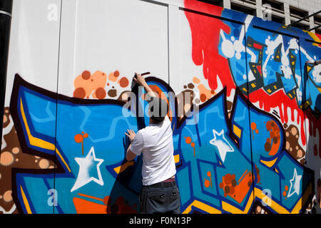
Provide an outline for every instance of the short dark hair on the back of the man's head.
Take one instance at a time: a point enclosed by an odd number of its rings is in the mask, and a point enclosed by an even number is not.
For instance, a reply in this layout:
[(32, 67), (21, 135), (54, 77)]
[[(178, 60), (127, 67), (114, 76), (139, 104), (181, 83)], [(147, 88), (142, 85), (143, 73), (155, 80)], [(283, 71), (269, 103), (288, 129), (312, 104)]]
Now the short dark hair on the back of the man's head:
[(151, 113), (150, 118), (153, 120), (153, 123), (163, 122), (163, 120), (165, 120), (165, 116), (168, 113), (167, 100), (151, 97), (149, 105), (149, 110)]

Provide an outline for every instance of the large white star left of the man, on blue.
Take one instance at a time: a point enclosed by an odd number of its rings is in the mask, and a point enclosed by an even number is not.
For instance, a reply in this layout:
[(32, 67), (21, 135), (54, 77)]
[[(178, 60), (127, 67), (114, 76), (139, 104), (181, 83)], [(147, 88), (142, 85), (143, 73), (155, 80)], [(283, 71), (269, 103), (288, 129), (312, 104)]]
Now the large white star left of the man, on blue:
[[(103, 159), (96, 158), (95, 150), (93, 150), (93, 147), (91, 147), (91, 150), (88, 152), (86, 157), (75, 157), (75, 160), (79, 165), (79, 172), (76, 182), (73, 185), (70, 192), (78, 190), (79, 187), (87, 185), (92, 180), (96, 182), (98, 185), (103, 185), (103, 179), (101, 178), (101, 170), (99, 169), (99, 166), (101, 165), (101, 163), (103, 163)], [(95, 165), (95, 163), (97, 163), (96, 168), (98, 179), (89, 175), (89, 172), (91, 169), (94, 168), (93, 166)]]

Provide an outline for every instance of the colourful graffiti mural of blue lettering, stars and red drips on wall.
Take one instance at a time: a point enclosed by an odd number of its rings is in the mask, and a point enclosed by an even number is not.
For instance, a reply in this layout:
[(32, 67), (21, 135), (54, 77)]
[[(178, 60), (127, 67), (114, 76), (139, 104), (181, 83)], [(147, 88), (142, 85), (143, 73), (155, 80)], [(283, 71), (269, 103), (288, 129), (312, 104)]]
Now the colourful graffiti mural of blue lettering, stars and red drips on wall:
[[(321, 37), (181, 4), (182, 58), (200, 74), (146, 78), (170, 108), (180, 211), (320, 213), (321, 68), (305, 62), (321, 58)], [(126, 161), (124, 133), (148, 125), (145, 91), (126, 67), (83, 68), (66, 78), (68, 93), (9, 76), (0, 213), (139, 211), (143, 159)]]

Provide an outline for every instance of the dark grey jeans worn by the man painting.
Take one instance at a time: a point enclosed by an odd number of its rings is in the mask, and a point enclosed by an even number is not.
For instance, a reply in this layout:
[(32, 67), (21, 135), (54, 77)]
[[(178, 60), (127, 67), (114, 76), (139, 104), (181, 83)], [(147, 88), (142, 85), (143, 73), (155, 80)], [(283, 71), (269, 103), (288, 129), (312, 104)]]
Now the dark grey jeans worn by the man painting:
[(180, 192), (175, 182), (159, 184), (165, 186), (143, 186), (139, 195), (140, 213), (180, 214)]

